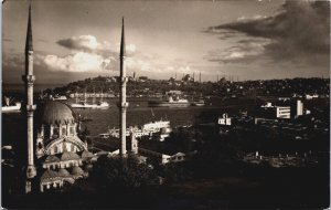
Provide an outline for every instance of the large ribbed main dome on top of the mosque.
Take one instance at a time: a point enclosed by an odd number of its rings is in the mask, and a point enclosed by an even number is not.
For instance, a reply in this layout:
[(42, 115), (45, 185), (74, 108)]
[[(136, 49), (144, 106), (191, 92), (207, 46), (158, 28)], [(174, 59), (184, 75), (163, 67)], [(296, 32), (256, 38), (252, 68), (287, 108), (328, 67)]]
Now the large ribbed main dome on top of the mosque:
[(49, 101), (42, 111), (42, 119), (43, 124), (61, 124), (61, 123), (70, 123), (75, 122), (74, 112), (72, 108), (57, 101)]

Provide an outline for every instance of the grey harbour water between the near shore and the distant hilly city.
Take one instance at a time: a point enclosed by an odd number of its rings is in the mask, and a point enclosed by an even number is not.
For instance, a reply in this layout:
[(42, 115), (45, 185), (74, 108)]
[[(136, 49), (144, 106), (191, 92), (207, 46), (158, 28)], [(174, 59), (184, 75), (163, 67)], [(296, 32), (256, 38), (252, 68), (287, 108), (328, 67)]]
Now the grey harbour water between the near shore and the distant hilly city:
[[(74, 108), (75, 114), (81, 114), (90, 122), (83, 122), (83, 127), (87, 127), (92, 136), (100, 133), (106, 133), (108, 128), (119, 127), (119, 109), (117, 107), (117, 98), (104, 99), (109, 103), (107, 109), (79, 109)], [(68, 99), (66, 103), (74, 103), (74, 99)], [(90, 102), (89, 102), (90, 103)], [(250, 102), (249, 102), (250, 103)], [(249, 103), (243, 101), (234, 101), (232, 103), (221, 102), (218, 98), (207, 101), (206, 106), (189, 106), (189, 107), (149, 107), (148, 99), (129, 101), (127, 111), (127, 127), (142, 126), (151, 120), (168, 119), (172, 127), (195, 124), (199, 122), (216, 120), (224, 112), (235, 113), (242, 106), (247, 107)], [(154, 117), (152, 115), (154, 114)], [(15, 140), (14, 134), (18, 127), (22, 127), (25, 116), (21, 113), (2, 114), (2, 136)], [(24, 129), (24, 128), (22, 128)], [(11, 134), (11, 135), (8, 135)]]

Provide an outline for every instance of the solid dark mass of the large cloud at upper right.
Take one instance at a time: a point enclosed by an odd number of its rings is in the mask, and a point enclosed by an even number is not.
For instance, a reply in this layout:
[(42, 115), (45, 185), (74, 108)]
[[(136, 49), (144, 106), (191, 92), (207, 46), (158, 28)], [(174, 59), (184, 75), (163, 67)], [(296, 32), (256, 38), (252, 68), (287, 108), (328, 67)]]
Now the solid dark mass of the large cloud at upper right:
[[(253, 36), (277, 40), (269, 50), (295, 55), (330, 52), (330, 2), (287, 1), (273, 15), (254, 20), (243, 20), (214, 28), (231, 29)], [(300, 52), (300, 53), (301, 53)]]

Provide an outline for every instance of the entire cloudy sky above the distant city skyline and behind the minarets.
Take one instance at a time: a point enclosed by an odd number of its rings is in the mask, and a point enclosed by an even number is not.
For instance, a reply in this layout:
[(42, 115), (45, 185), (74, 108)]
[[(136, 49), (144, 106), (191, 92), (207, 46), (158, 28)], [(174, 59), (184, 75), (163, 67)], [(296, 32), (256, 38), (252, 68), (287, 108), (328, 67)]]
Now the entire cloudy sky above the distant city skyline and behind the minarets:
[[(21, 83), (29, 1), (2, 4), (2, 81)], [(329, 77), (330, 2), (32, 0), (39, 84), (119, 75), (202, 81)]]

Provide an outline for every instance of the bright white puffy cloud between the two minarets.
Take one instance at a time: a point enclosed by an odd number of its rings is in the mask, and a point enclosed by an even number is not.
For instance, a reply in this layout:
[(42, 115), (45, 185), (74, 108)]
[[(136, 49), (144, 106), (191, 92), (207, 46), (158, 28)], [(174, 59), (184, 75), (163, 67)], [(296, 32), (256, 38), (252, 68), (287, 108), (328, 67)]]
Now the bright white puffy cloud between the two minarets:
[[(99, 42), (94, 35), (79, 35), (62, 39), (56, 42), (68, 49), (70, 54), (64, 56), (47, 54), (41, 55), (43, 64), (53, 71), (64, 72), (102, 72), (118, 69), (118, 44)], [(136, 45), (128, 44), (128, 55), (136, 53)]]

